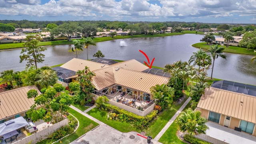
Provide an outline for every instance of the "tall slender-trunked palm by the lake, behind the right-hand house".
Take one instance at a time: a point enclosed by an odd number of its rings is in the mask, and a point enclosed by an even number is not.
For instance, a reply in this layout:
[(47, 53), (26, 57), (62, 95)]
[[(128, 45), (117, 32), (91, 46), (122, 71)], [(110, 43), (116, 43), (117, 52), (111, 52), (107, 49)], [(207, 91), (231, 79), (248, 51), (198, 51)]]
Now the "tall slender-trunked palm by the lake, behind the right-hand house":
[[(214, 47), (210, 46), (211, 48), (208, 50), (210, 51), (212, 55), (212, 72), (213, 72), (213, 67), (214, 67), (214, 61), (218, 57), (222, 57), (223, 59), (226, 59), (226, 55), (222, 54), (223, 50), (225, 49), (224, 47), (218, 47), (218, 45), (214, 45)], [(212, 79), (212, 74), (211, 74), (211, 79)]]

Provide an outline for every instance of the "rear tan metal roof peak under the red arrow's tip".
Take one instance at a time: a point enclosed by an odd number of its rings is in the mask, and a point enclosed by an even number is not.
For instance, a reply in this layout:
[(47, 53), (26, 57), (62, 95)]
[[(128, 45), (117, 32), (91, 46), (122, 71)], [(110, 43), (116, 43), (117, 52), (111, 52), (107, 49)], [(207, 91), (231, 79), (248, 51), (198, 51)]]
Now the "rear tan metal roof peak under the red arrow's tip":
[(130, 69), (132, 71), (145, 71), (145, 70), (149, 69), (146, 65), (140, 63), (139, 61), (137, 61), (135, 59), (116, 63), (111, 66), (119, 67), (119, 68), (123, 68), (123, 69)]

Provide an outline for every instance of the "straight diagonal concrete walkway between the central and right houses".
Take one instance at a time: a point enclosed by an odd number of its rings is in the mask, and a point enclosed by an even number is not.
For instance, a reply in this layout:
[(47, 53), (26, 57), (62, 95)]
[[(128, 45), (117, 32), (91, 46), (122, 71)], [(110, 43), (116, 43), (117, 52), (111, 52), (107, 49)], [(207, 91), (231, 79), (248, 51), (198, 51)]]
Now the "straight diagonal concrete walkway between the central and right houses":
[(188, 102), (191, 100), (191, 97), (189, 97), (185, 103), (180, 107), (180, 109), (174, 114), (174, 116), (172, 116), (172, 118), (167, 122), (167, 124), (164, 126), (164, 128), (156, 135), (156, 137), (154, 138), (154, 140), (158, 141), (161, 136), (164, 134), (164, 132), (166, 132), (166, 130), (170, 127), (170, 125), (172, 124), (172, 122), (174, 122), (174, 120), (176, 119), (176, 117), (180, 114), (180, 112), (182, 112), (182, 110), (186, 107), (186, 105), (188, 105)]

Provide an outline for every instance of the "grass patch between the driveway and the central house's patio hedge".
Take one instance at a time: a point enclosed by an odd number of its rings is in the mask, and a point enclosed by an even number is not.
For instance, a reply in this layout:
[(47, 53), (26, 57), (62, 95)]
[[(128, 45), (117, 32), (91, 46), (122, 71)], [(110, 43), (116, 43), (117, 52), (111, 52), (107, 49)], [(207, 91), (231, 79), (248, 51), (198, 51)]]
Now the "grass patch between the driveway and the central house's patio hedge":
[(121, 122), (117, 120), (107, 120), (108, 113), (103, 110), (99, 110), (98, 108), (93, 108), (89, 112), (87, 112), (90, 116), (104, 122), (105, 124), (111, 126), (112, 128), (115, 128), (116, 130), (119, 130), (120, 132), (131, 132), (136, 131), (133, 126), (127, 122)]

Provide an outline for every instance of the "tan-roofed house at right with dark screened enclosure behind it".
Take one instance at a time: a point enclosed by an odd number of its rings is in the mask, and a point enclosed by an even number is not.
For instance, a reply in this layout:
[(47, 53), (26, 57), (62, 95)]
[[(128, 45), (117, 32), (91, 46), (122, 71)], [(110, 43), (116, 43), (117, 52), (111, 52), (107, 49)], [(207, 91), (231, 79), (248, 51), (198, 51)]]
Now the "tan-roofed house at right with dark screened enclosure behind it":
[(256, 86), (214, 81), (196, 110), (209, 121), (256, 136)]

